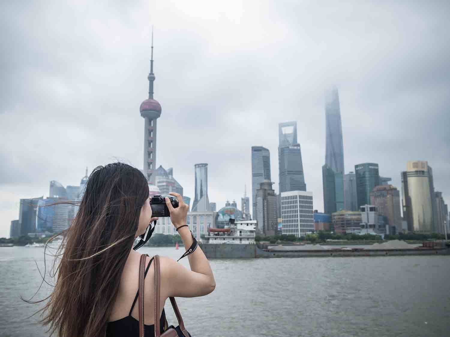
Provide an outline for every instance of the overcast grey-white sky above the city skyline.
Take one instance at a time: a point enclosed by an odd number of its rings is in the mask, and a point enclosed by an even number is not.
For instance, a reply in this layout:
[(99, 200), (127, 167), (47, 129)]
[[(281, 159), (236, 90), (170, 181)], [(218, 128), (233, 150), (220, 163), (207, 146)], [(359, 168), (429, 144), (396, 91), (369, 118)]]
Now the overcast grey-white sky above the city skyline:
[[(400, 4), (401, 3), (401, 4)], [(217, 208), (251, 191), (251, 146), (270, 150), (296, 120), (308, 191), (323, 211), (324, 90), (341, 101), (346, 173), (363, 162), (401, 189), (408, 160), (428, 160), (450, 202), (450, 13), (446, 1), (3, 1), (0, 237), (19, 199), (85, 167), (143, 167), (154, 25), (157, 166), (193, 199), (208, 163)]]

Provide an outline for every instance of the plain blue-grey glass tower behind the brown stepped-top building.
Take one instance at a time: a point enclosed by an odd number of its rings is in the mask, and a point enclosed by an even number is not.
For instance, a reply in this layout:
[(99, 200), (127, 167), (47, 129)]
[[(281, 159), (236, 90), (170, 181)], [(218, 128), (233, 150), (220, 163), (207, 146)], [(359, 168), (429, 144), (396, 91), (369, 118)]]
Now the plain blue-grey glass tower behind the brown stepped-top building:
[(270, 152), (262, 146), (252, 146), (252, 217), (256, 219), (256, 190), (270, 179)]

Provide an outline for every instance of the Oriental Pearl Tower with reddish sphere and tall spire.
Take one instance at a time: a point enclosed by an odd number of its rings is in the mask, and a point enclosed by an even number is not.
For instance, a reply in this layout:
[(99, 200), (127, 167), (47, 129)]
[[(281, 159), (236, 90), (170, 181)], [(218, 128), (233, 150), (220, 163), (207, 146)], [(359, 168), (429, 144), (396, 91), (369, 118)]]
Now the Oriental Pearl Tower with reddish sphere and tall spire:
[(153, 99), (153, 29), (152, 29), (152, 57), (150, 59), (150, 73), (148, 74), (148, 99), (141, 103), (139, 111), (144, 117), (144, 175), (148, 183), (155, 184), (155, 165), (156, 165), (156, 122), (161, 116), (161, 105)]

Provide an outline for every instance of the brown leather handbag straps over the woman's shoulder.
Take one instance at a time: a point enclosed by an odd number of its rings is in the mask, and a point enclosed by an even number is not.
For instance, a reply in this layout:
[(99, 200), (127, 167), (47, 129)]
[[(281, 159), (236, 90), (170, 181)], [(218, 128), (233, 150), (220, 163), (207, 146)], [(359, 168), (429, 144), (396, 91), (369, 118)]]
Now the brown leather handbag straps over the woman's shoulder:
[[(144, 274), (145, 274), (145, 258), (147, 254), (142, 254), (139, 263), (139, 337), (144, 337)], [(153, 266), (155, 268), (155, 337), (192, 337), (190, 333), (184, 328), (183, 319), (181, 318), (180, 310), (175, 302), (175, 297), (169, 297), (172, 308), (175, 311), (178, 326), (169, 326), (164, 333), (161, 334), (159, 324), (159, 302), (160, 302), (160, 269), (159, 256), (155, 255), (153, 258)], [(167, 324), (166, 324), (167, 325)]]

